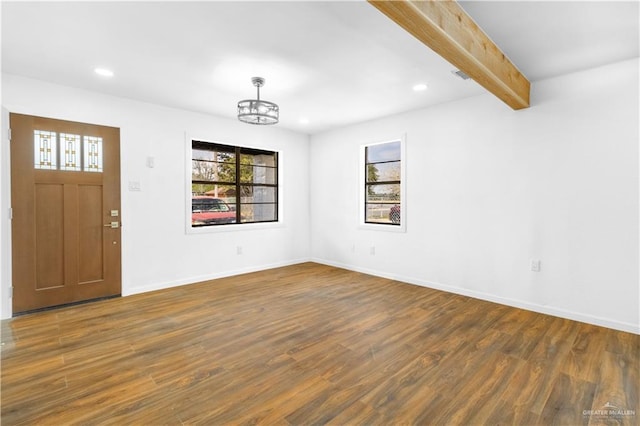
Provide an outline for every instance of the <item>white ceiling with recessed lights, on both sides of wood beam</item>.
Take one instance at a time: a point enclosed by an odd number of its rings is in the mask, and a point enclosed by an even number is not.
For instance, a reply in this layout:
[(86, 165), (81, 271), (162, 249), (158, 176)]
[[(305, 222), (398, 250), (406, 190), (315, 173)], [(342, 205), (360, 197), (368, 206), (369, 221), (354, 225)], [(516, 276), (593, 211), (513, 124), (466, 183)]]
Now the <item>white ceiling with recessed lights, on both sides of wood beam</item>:
[[(637, 1), (461, 4), (534, 82), (639, 56)], [(304, 133), (484, 93), (453, 69), (364, 1), (2, 2), (3, 72), (229, 118), (262, 76)]]

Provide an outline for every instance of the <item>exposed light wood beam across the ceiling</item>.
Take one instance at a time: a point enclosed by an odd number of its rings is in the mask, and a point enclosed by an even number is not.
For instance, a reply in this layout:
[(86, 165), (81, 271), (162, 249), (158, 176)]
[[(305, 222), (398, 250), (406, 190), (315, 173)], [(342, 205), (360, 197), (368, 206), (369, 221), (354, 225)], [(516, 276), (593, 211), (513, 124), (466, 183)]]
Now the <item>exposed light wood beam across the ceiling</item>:
[(454, 0), (367, 0), (513, 109), (529, 107), (529, 80)]

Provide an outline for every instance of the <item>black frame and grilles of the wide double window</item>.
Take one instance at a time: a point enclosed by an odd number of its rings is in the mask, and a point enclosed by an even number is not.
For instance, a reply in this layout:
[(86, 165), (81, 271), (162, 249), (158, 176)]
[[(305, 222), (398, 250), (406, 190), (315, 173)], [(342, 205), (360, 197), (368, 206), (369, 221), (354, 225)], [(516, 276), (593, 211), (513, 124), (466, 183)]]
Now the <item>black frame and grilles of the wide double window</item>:
[[(213, 152), (228, 152), (233, 153), (235, 157), (235, 179), (233, 181), (223, 181), (223, 180), (194, 180), (193, 178), (193, 161), (207, 161), (207, 160), (199, 160), (194, 158), (193, 152), (194, 150), (204, 150), (204, 151), (213, 151)], [(274, 183), (254, 183), (254, 182), (243, 182), (242, 181), (242, 166), (247, 166), (247, 164), (242, 164), (242, 156), (243, 155), (269, 155), (274, 158), (274, 166), (258, 166), (273, 169), (273, 181)], [(231, 162), (229, 163), (231, 164)], [(279, 155), (277, 151), (270, 151), (265, 149), (257, 149), (257, 148), (248, 148), (243, 146), (236, 145), (227, 145), (218, 142), (206, 142), (201, 140), (193, 139), (191, 141), (191, 197), (195, 196), (193, 191), (194, 184), (204, 184), (204, 185), (221, 185), (221, 186), (233, 186), (235, 188), (235, 202), (230, 203), (227, 200), (223, 200), (227, 203), (236, 213), (236, 219), (234, 223), (207, 223), (204, 225), (193, 225), (191, 224), (191, 228), (202, 228), (202, 227), (211, 227), (211, 226), (223, 226), (223, 225), (247, 225), (247, 224), (257, 224), (257, 223), (274, 223), (279, 222)], [(254, 165), (254, 167), (256, 167)], [(274, 190), (274, 200), (272, 202), (259, 202), (259, 203), (243, 203), (242, 202), (242, 188), (243, 187), (266, 187), (273, 188)], [(253, 193), (253, 191), (251, 191)], [(193, 202), (192, 202), (193, 203)], [(243, 205), (273, 205), (274, 209), (274, 218), (270, 220), (252, 220), (246, 221), (242, 219), (242, 206)]]

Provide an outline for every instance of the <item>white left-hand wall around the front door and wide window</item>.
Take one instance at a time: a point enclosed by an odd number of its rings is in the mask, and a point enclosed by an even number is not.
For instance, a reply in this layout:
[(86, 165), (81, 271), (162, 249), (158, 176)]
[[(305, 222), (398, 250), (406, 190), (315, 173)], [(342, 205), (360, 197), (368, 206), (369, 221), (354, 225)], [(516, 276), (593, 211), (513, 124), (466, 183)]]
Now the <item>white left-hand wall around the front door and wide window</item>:
[[(120, 128), (123, 295), (308, 260), (307, 135), (14, 75), (3, 75), (2, 89), (2, 105), (10, 112)], [(185, 144), (190, 142), (186, 142), (185, 133), (231, 145), (282, 151), (282, 225), (187, 234)], [(154, 168), (146, 167), (148, 156), (154, 157)], [(9, 170), (4, 163), (0, 174), (0, 182), (5, 182)], [(141, 191), (129, 191), (130, 181), (140, 182)], [(8, 203), (10, 194), (5, 185), (1, 196)], [(4, 211), (2, 217), (4, 220)], [(6, 241), (4, 231), (2, 241)], [(238, 245), (243, 249), (241, 255), (236, 251)], [(2, 258), (6, 255), (3, 252)], [(2, 286), (10, 286), (4, 275)], [(7, 318), (10, 305), (4, 302), (0, 303), (0, 317)]]

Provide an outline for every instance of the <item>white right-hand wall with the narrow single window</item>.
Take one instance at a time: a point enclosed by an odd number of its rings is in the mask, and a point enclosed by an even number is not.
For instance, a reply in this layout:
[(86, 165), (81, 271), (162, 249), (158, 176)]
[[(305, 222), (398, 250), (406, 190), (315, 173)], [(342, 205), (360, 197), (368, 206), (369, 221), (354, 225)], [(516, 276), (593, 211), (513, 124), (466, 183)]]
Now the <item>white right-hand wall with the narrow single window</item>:
[[(638, 333), (638, 113), (636, 59), (535, 83), (526, 110), (483, 95), (314, 135), (312, 256)], [(359, 146), (403, 134), (407, 231), (359, 228)]]

